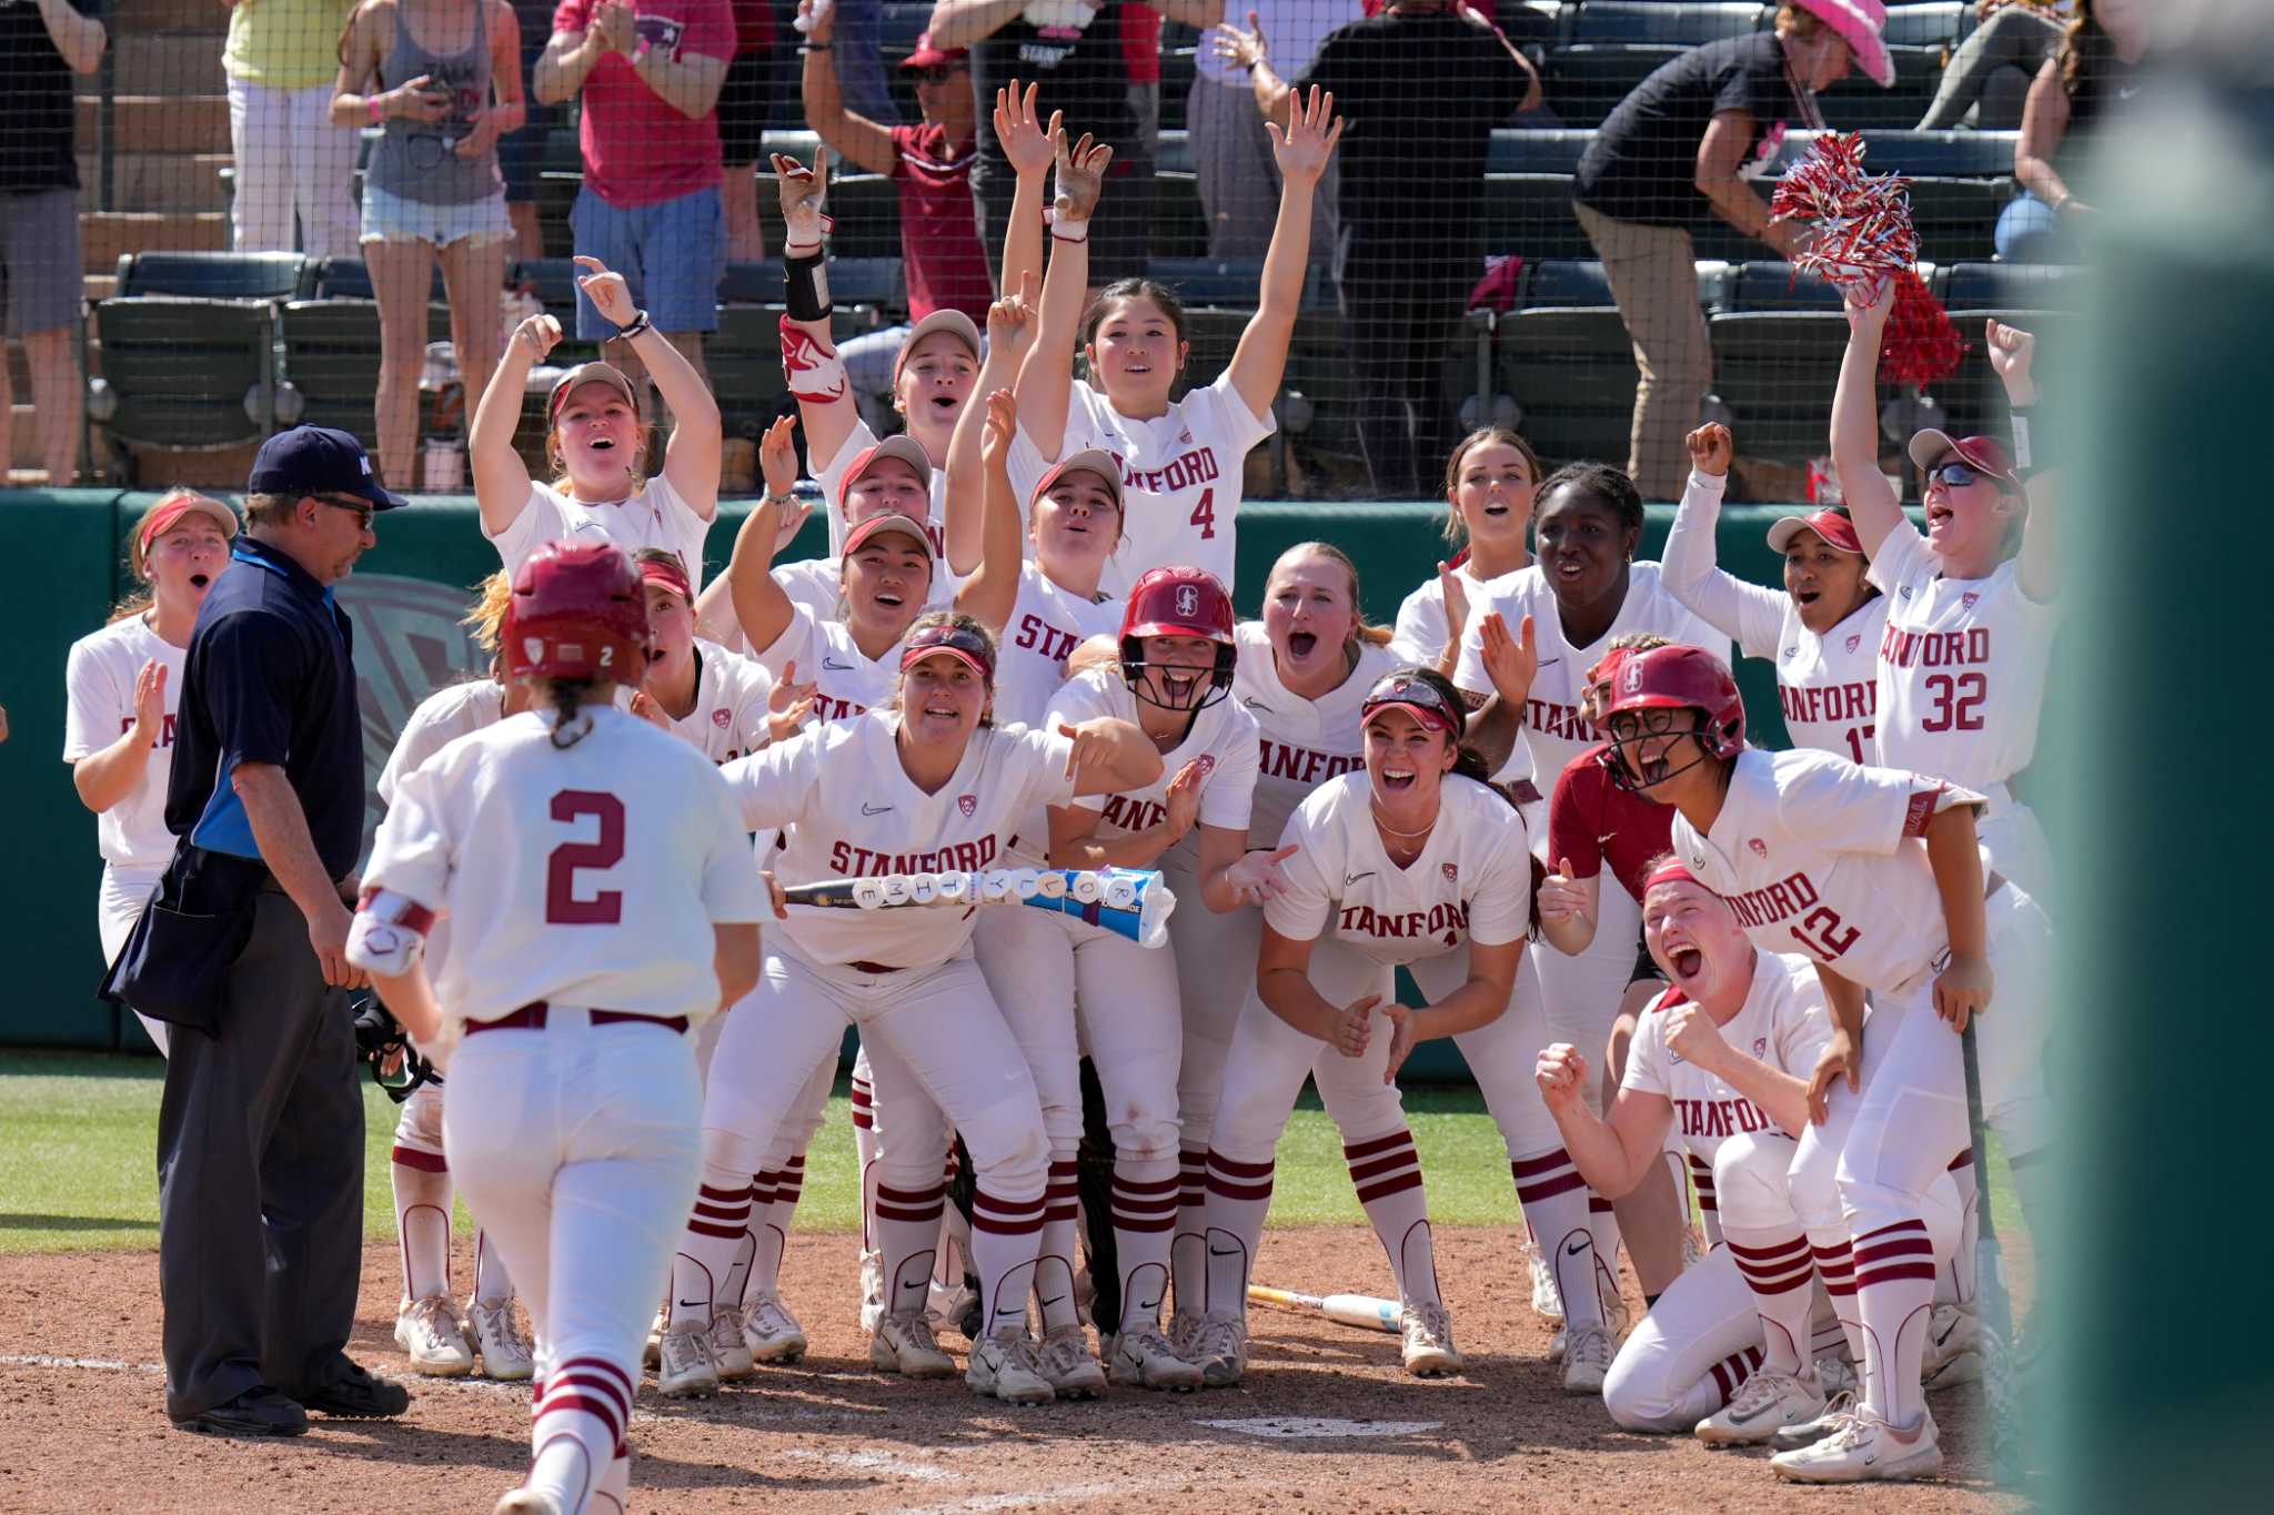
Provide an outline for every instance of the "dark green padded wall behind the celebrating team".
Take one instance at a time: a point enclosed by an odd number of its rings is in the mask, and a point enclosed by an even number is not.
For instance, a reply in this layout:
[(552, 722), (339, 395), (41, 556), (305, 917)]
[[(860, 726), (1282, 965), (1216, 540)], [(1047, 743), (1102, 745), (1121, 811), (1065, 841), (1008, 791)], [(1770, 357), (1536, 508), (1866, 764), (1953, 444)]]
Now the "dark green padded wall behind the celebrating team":
[[(0, 675), (9, 740), (0, 745), (9, 861), (0, 868), (0, 911), (9, 922), (9, 974), (0, 988), (0, 1045), (146, 1047), (132, 1015), (96, 1002), (102, 952), (96, 940), (96, 825), (70, 788), (64, 750), (64, 656), (102, 625), (127, 588), (125, 536), (152, 495), (116, 491), (0, 491), (0, 513), (32, 547), (34, 572), (0, 606), (11, 650)], [(732, 550), (748, 502), (725, 507), (709, 536), (709, 572)], [(1721, 563), (1742, 577), (1778, 581), (1778, 559), (1762, 534), (1781, 507), (1731, 507), (1721, 516)], [(1655, 556), (1674, 518), (1655, 507), (1644, 556)], [(1364, 577), (1364, 609), (1378, 622), (1435, 572), (1444, 554), (1442, 509), (1421, 504), (1248, 504), (1239, 511), (1237, 604), (1253, 611), (1262, 581), (1285, 547), (1330, 538)], [(787, 556), (823, 552), (823, 525), (807, 522)], [(364, 690), (366, 772), (375, 781), (393, 736), (425, 693), (480, 668), (457, 627), (466, 591), (498, 566), (482, 541), (471, 500), (418, 500), (380, 518), (380, 545), (341, 586), (355, 616), (355, 661)], [(1740, 670), (1756, 740), (1783, 743), (1767, 663)], [(377, 825), (377, 806), (373, 820)], [(1458, 1054), (1414, 1061), (1421, 1077), (1460, 1077)]]

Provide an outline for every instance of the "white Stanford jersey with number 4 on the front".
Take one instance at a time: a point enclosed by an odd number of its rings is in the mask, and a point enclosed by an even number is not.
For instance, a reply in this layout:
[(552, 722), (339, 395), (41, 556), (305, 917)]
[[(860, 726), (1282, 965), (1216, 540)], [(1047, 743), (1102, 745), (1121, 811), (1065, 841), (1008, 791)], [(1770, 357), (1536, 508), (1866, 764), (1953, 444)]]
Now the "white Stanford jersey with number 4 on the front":
[[(1148, 568), (1189, 563), (1233, 584), (1242, 470), (1248, 450), (1271, 436), (1271, 413), (1248, 413), (1233, 375), (1187, 393), (1153, 420), (1123, 416), (1087, 379), (1067, 395), (1067, 434), (1053, 457), (1103, 447), (1121, 463), (1121, 547), (1105, 561), (1103, 588), (1126, 595)], [(1010, 445), (1010, 482), (1021, 516), (1051, 470), (1026, 427)]]

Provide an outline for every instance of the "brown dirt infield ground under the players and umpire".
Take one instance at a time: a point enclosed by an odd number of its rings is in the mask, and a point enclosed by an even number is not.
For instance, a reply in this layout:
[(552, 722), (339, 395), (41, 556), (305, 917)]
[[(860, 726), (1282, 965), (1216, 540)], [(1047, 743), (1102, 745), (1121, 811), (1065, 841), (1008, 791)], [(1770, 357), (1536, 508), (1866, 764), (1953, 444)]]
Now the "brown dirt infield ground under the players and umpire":
[[(1469, 1372), (1399, 1367), (1396, 1340), (1255, 1315), (1244, 1386), (1114, 1390), (1098, 1404), (1010, 1411), (962, 1383), (869, 1372), (853, 1240), (796, 1236), (785, 1283), (814, 1351), (705, 1404), (641, 1395), (639, 1510), (2008, 1510), (1976, 1456), (1974, 1390), (1935, 1399), (1949, 1476), (1867, 1490), (1778, 1485), (1753, 1454), (1615, 1431), (1544, 1361), (1505, 1231), (1444, 1231), (1439, 1274)], [(457, 1279), (471, 1258), (459, 1247)], [(1358, 1229), (1271, 1231), (1260, 1277), (1283, 1288), (1387, 1290)], [(364, 1258), (352, 1351), (405, 1374), (393, 1345), (396, 1256)], [(948, 1333), (944, 1345), (962, 1347)], [(528, 1456), (528, 1392), (407, 1379), (393, 1424), (316, 1422), (293, 1442), (173, 1431), (157, 1361), (155, 1254), (0, 1261), (0, 1510), (487, 1513)], [(1271, 1417), (1355, 1422), (1271, 1433)], [(1242, 1424), (1246, 1422), (1246, 1424)]]

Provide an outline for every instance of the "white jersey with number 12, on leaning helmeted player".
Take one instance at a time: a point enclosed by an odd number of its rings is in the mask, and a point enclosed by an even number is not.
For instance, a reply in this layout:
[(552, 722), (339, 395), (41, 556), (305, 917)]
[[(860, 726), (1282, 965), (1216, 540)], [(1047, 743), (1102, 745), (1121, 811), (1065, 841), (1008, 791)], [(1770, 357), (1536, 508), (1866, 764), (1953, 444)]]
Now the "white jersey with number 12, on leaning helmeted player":
[(1926, 822), (1978, 802), (1828, 752), (1746, 747), (1712, 831), (1674, 818), (1674, 852), (1762, 952), (1803, 952), (1869, 990), (1908, 993), (1949, 952)]

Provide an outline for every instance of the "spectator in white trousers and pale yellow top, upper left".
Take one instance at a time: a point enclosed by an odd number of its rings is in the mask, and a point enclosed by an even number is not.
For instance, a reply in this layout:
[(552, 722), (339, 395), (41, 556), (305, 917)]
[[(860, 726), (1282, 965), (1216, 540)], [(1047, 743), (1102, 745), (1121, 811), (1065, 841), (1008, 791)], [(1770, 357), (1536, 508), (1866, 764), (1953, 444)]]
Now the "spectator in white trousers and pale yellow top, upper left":
[[(339, 41), (357, 0), (223, 0), (230, 41), (232, 245), (355, 257), (352, 127), (332, 123)], [(298, 236), (293, 220), (298, 218)]]

